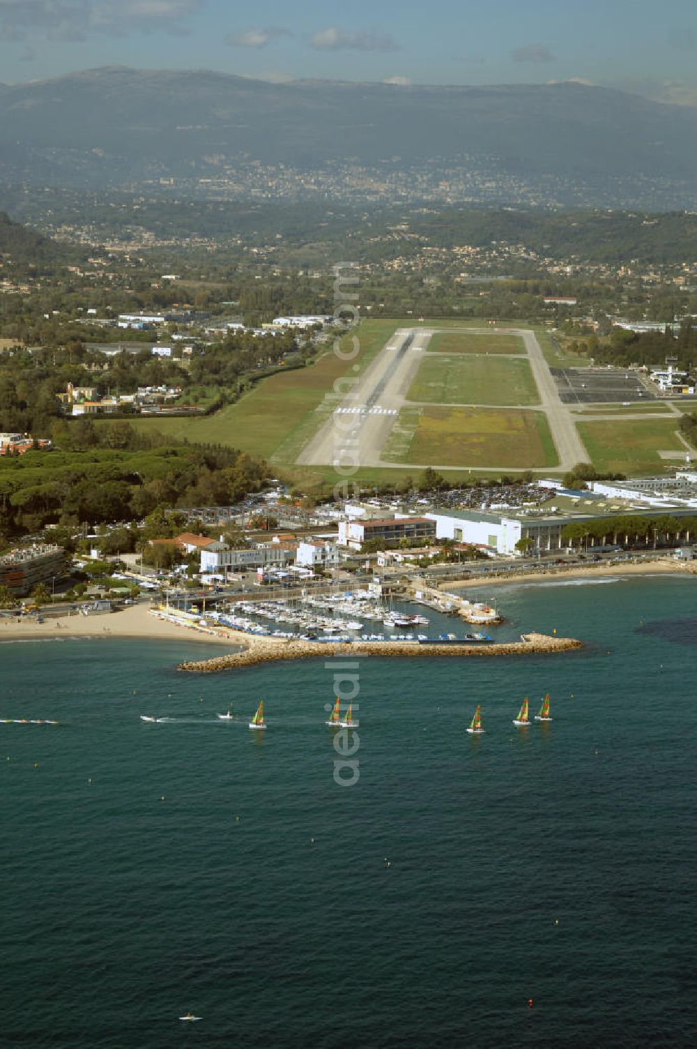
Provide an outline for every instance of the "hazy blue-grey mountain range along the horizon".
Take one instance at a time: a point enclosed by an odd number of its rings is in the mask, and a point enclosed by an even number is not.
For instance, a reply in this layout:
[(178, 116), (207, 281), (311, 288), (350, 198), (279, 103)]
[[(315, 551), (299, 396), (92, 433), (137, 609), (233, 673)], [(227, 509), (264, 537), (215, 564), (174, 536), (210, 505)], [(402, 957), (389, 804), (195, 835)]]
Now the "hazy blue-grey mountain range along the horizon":
[(597, 195), (587, 202), (693, 207), (697, 109), (579, 83), (270, 84), (103, 68), (0, 85), (0, 181), (103, 189), (214, 177), (243, 194), (234, 173), (254, 162), (414, 172), (416, 196), (419, 179), (472, 169), (498, 179), (501, 200), (520, 183), (541, 202), (583, 186)]

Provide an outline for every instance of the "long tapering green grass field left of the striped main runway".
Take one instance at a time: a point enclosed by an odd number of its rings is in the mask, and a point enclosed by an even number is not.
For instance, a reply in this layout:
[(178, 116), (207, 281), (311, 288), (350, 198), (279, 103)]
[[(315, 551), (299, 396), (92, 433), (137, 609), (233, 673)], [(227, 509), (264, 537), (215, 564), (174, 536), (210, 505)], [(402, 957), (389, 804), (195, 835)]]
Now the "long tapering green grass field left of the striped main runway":
[[(325, 394), (331, 392), (341, 376), (360, 374), (382, 349), (396, 321), (368, 320), (357, 328), (361, 349), (353, 361), (342, 361), (328, 350), (314, 364), (293, 371), (278, 372), (262, 380), (236, 404), (203, 419), (138, 419), (132, 425), (148, 427), (176, 437), (203, 444), (231, 445), (251, 455), (262, 455), (278, 463), (292, 464), (300, 449), (333, 407), (318, 412)], [(353, 334), (346, 336), (342, 352), (352, 347)], [(352, 371), (354, 365), (358, 370)]]

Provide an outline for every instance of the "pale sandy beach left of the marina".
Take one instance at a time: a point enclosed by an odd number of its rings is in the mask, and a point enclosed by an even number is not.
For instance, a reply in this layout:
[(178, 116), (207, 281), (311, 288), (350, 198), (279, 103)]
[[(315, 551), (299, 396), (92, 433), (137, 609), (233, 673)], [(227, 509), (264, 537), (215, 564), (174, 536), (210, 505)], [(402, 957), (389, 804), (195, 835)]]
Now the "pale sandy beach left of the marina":
[(0, 619), (0, 642), (29, 641), (44, 638), (151, 638), (161, 641), (202, 641), (215, 645), (237, 645), (233, 631), (197, 630), (158, 619), (146, 604), (132, 605), (123, 612), (101, 616), (61, 616), (37, 623), (34, 616)]

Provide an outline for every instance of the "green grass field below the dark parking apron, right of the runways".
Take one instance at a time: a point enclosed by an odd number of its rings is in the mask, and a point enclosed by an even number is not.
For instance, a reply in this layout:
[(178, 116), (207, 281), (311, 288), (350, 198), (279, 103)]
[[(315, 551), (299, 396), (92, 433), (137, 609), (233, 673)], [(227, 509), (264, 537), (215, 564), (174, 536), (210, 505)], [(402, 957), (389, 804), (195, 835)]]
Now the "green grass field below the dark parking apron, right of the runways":
[(579, 423), (579, 434), (593, 466), (613, 473), (649, 473), (674, 469), (675, 459), (663, 459), (659, 451), (685, 452), (676, 430), (679, 420), (647, 419), (622, 422)]

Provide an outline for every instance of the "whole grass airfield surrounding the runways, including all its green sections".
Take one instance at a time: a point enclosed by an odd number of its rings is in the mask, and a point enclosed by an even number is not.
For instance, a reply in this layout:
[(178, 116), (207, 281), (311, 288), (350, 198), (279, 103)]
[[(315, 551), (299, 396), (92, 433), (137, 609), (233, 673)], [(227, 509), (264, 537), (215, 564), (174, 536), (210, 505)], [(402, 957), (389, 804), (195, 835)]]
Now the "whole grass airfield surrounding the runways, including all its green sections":
[[(481, 322), (479, 322), (481, 323)], [(527, 327), (523, 325), (524, 327)], [(322, 426), (331, 424), (342, 404), (334, 391), (344, 379), (360, 386), (388, 342), (399, 329), (431, 330), (418, 356), (404, 368), (405, 382), (393, 377), (389, 427), (380, 448), (361, 462), (352, 479), (377, 484), (417, 476), (426, 466), (449, 471), (456, 479), (501, 471), (541, 472), (566, 469), (554, 441), (552, 414), (540, 393), (526, 343), (517, 331), (471, 326), (458, 321), (366, 319), (341, 343), (348, 355), (354, 336), (355, 358), (342, 360), (331, 346), (311, 365), (278, 372), (260, 381), (238, 402), (202, 418), (137, 419), (138, 429), (159, 430), (192, 442), (224, 444), (266, 458), (281, 474), (304, 487), (335, 483), (331, 456), (299, 465)], [(559, 350), (544, 330), (536, 331), (548, 365), (559, 366)], [(426, 335), (426, 333), (424, 333)], [(527, 336), (525, 336), (527, 339)], [(539, 350), (538, 350), (539, 352)], [(583, 362), (576, 361), (575, 366)], [(370, 374), (371, 372), (369, 372)], [(360, 401), (360, 394), (358, 394)], [(559, 406), (556, 406), (557, 411)], [(689, 450), (677, 434), (680, 408), (663, 403), (562, 406), (598, 470), (627, 474), (661, 472), (678, 465)], [(383, 410), (383, 409), (380, 409)], [(636, 412), (636, 414), (634, 414)], [(624, 416), (627, 418), (624, 418)], [(646, 418), (642, 418), (642, 416)], [(581, 446), (583, 447), (583, 446)]]

